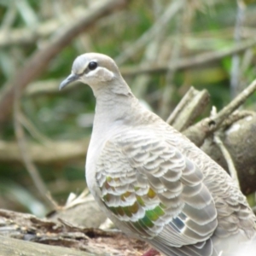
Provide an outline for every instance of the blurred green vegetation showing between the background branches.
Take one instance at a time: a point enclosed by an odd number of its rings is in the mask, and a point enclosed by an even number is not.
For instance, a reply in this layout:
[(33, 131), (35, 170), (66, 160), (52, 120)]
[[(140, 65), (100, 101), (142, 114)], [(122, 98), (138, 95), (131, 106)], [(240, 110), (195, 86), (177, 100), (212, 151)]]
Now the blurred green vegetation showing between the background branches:
[[(86, 11), (88, 5), (96, 1), (0, 1), (0, 86), (12, 79), (29, 58), (50, 39), (58, 37), (70, 20), (76, 19), (77, 10)], [(177, 14), (165, 25), (159, 26), (153, 36), (137, 47), (137, 41), (160, 20), (161, 16), (176, 1), (131, 0), (124, 9), (97, 20), (93, 26), (73, 38), (72, 44), (53, 58), (47, 69), (42, 70), (38, 79), (28, 84), (21, 98), (21, 111), (32, 125), (22, 123), (26, 131), (26, 143), (43, 145), (49, 141), (80, 140), (90, 136), (92, 113), (95, 99), (88, 86), (73, 85), (68, 90), (58, 92), (58, 85), (71, 70), (74, 58), (84, 52), (101, 52), (117, 60), (120, 69), (125, 67), (155, 66), (176, 63), (203, 53), (218, 52), (233, 48), (248, 39), (255, 38), (256, 4), (245, 5), (241, 20), (240, 39), (235, 41), (234, 31), (237, 19), (236, 1), (184, 1)], [(2, 44), (3, 38), (14, 32), (35, 32), (46, 22), (59, 22), (58, 29), (47, 30), (44, 35), (22, 42), (10, 37), (9, 44)], [(17, 36), (19, 38), (19, 36)], [(131, 55), (121, 58), (127, 49)], [(240, 73), (237, 91), (242, 90), (255, 79), (255, 48), (239, 53)], [(218, 109), (230, 102), (230, 76), (232, 75), (232, 55), (204, 65), (177, 69), (170, 73), (137, 74), (125, 76), (134, 93), (155, 113), (166, 119), (191, 85), (196, 89), (206, 88), (212, 104)], [(43, 88), (36, 82), (44, 82)], [(44, 84), (53, 82), (51, 90)], [(37, 87), (38, 86), (38, 87)], [(33, 89), (29, 93), (28, 89)], [(35, 92), (35, 90), (42, 90)], [(168, 93), (167, 93), (168, 92)], [(170, 93), (169, 93), (170, 92)], [(164, 100), (164, 96), (167, 97)], [(246, 105), (255, 110), (256, 96)], [(166, 110), (167, 109), (167, 110)], [(0, 110), (1, 111), (1, 110)], [(208, 115), (206, 109), (205, 115)], [(38, 131), (40, 136), (32, 132)], [(43, 138), (42, 138), (43, 137)], [(1, 127), (0, 140), (16, 140), (13, 116), (9, 115)], [(0, 142), (1, 147), (1, 142)], [(70, 151), (73, 148), (69, 148)], [(84, 157), (86, 146), (84, 145)], [(1, 151), (0, 151), (1, 154)], [(44, 153), (43, 153), (44, 154)], [(37, 164), (39, 173), (50, 194), (60, 204), (67, 195), (81, 192), (84, 187), (84, 157), (73, 160)], [(21, 158), (20, 158), (21, 159)], [(0, 207), (18, 211), (33, 212), (38, 215), (47, 211), (38, 195), (32, 178), (22, 161), (2, 161), (0, 163)]]

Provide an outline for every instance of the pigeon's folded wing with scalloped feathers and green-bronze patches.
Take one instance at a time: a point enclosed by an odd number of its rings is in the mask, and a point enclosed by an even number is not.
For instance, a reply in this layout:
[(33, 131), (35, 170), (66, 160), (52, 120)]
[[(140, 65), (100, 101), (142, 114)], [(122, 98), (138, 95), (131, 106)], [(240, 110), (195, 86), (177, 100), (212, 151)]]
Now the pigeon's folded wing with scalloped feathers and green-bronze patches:
[(216, 229), (216, 208), (202, 180), (195, 163), (144, 129), (109, 139), (96, 164), (108, 210), (131, 232), (166, 247), (203, 247)]

